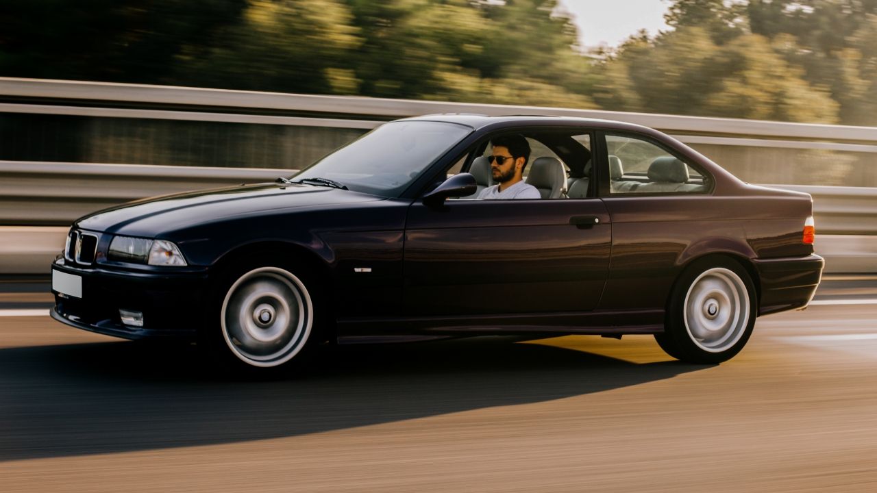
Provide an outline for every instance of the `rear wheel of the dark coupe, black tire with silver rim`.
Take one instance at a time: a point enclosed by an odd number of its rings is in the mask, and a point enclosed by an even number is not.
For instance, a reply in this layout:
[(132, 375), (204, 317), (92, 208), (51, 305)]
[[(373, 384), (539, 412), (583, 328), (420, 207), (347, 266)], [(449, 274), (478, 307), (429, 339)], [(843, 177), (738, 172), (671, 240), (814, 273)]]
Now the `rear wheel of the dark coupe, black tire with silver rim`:
[(755, 285), (737, 261), (709, 257), (686, 268), (670, 295), (661, 349), (689, 363), (728, 361), (752, 335)]

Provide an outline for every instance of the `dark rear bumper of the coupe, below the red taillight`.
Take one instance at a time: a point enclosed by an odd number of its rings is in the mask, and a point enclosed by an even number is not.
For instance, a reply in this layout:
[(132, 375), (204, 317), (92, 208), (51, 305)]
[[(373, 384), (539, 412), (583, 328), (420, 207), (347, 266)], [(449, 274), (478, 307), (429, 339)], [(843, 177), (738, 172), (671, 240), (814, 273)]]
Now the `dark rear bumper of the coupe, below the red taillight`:
[(761, 281), (759, 316), (802, 309), (810, 303), (822, 280), (825, 261), (819, 255), (752, 261)]

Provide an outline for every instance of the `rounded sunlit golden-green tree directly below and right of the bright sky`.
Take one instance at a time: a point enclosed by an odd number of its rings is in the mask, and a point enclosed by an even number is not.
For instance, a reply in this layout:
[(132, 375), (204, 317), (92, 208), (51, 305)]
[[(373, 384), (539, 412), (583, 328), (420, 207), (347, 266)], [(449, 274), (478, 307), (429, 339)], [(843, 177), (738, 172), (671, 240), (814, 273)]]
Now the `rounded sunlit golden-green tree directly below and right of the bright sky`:
[[(699, 116), (832, 123), (838, 105), (761, 36), (717, 45), (699, 27), (630, 39), (604, 63), (603, 107)], [(617, 85), (617, 81), (622, 81)], [(617, 89), (616, 89), (617, 88)], [(618, 107), (621, 105), (621, 107)]]

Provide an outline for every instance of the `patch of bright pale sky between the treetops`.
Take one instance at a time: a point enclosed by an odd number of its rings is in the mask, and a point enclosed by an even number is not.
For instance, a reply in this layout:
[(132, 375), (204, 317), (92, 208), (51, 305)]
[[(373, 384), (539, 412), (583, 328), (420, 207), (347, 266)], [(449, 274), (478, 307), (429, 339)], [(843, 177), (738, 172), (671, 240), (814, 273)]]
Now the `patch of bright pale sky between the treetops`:
[(631, 34), (645, 29), (650, 34), (667, 30), (664, 14), (668, 0), (560, 0), (574, 17), (581, 45), (618, 46)]

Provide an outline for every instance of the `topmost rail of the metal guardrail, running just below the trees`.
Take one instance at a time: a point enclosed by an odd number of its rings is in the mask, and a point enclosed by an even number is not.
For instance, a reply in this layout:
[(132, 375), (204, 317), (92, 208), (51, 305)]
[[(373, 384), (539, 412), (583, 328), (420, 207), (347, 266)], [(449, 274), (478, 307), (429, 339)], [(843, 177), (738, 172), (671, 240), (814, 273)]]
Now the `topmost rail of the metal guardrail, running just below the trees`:
[[(96, 107), (101, 105), (106, 106), (110, 103), (123, 103), (139, 106), (145, 104), (168, 106), (185, 105), (189, 108), (201, 107), (204, 110), (221, 109), (221, 112), (225, 113), (225, 115), (217, 115), (217, 112), (215, 111), (197, 111), (195, 109), (191, 111), (160, 111), (157, 113), (150, 113), (149, 110), (117, 109), (111, 111), (109, 108), (101, 109), (104, 113), (100, 116), (124, 118), (172, 118), (193, 120), (204, 118), (205, 121), (254, 123), (254, 121), (246, 119), (247, 115), (237, 115), (228, 112), (229, 109), (238, 108), (246, 109), (248, 111), (288, 111), (306, 114), (306, 118), (296, 118), (293, 120), (284, 118), (267, 118), (260, 120), (259, 123), (308, 125), (304, 122), (316, 118), (317, 115), (336, 115), (335, 118), (330, 118), (330, 121), (318, 122), (319, 125), (346, 128), (369, 128), (370, 126), (376, 125), (377, 122), (363, 122), (361, 120), (367, 118), (388, 120), (431, 113), (478, 113), (488, 116), (527, 114), (621, 120), (638, 125), (650, 126), (665, 132), (676, 132), (681, 134), (786, 138), (790, 141), (818, 140), (823, 142), (858, 142), (869, 145), (866, 148), (870, 148), (870, 146), (877, 144), (877, 127), (866, 126), (798, 124), (746, 120), (742, 118), (686, 117), (624, 111), (413, 101), (406, 99), (362, 96), (316, 96), (108, 82), (53, 81), (0, 77), (0, 96), (14, 96), (16, 98), (32, 99), (45, 98), (51, 101), (72, 100), (77, 102), (92, 102), (94, 103), (92, 106)], [(5, 104), (0, 111), (39, 111), (54, 112), (54, 114), (96, 116), (94, 113), (96, 108), (83, 107), (82, 104), (77, 104), (75, 106), (44, 106), (42, 107), (42, 110), (34, 108), (33, 106), (35, 105)], [(345, 119), (342, 116), (355, 116), (358, 118)], [(241, 120), (240, 118), (244, 118), (244, 120)], [(313, 122), (311, 122), (311, 124), (312, 123)], [(702, 139), (699, 141), (702, 141)], [(724, 141), (722, 144), (733, 145), (728, 141)], [(748, 146), (752, 144), (747, 143), (746, 145)], [(871, 149), (866, 152), (874, 151)]]

